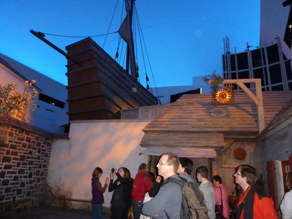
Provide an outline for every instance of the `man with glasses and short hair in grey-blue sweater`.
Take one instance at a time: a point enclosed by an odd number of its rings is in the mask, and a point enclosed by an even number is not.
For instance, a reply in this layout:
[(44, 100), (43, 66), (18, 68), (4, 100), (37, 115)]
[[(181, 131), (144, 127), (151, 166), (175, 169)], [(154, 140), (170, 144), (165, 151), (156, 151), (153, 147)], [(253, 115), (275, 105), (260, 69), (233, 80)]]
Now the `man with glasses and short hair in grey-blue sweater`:
[[(177, 171), (180, 161), (173, 153), (161, 155), (157, 164), (158, 174), (164, 178), (157, 195), (143, 204), (142, 214), (157, 219), (180, 218), (182, 190), (176, 183), (166, 183), (170, 178), (180, 180)], [(167, 216), (168, 215), (168, 216)]]

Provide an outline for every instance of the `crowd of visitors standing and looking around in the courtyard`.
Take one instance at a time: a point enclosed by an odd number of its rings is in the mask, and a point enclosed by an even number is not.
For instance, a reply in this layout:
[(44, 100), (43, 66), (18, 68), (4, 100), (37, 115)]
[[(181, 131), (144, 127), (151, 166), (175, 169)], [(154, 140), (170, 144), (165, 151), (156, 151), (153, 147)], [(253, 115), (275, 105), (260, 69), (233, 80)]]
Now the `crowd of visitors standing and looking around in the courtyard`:
[[(140, 164), (135, 178), (131, 178), (130, 171), (125, 167), (118, 170), (112, 168), (105, 184), (99, 181), (103, 171), (97, 167), (92, 173), (92, 219), (102, 218), (103, 193), (108, 187), (113, 192), (111, 215), (113, 219), (127, 219), (128, 212), (133, 207), (133, 219), (150, 218), (182, 218), (183, 189), (180, 184), (169, 183), (178, 180), (184, 185), (194, 184), (191, 177), (193, 161), (187, 157), (178, 158), (173, 153), (161, 155), (157, 164), (158, 176), (150, 172), (147, 164)], [(116, 180), (114, 180), (116, 175)], [(206, 217), (210, 219), (277, 219), (272, 198), (259, 187), (258, 175), (254, 167), (240, 165), (234, 174), (235, 183), (240, 185), (232, 214), (229, 211), (227, 190), (219, 175), (208, 180), (209, 171), (206, 166), (196, 169), (196, 179), (199, 190), (204, 195)], [(286, 175), (285, 185), (287, 193), (280, 205), (282, 219), (292, 219), (292, 172)]]

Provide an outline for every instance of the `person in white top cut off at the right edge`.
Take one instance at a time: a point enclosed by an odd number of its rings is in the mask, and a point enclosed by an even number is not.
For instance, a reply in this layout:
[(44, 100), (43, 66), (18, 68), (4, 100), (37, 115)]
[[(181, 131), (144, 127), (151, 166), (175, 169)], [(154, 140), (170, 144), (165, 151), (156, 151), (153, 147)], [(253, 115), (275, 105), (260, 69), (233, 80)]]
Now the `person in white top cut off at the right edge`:
[(292, 172), (287, 173), (285, 177), (285, 187), (288, 192), (280, 204), (282, 219), (292, 219)]

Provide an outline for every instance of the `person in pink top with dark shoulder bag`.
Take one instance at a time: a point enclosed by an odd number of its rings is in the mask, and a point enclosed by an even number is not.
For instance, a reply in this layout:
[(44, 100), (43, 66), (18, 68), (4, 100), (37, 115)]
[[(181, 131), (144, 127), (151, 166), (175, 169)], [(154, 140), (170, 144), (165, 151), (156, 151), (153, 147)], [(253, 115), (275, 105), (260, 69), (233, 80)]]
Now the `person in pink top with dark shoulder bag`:
[[(229, 206), (228, 206), (228, 195), (225, 187), (222, 184), (222, 179), (219, 175), (213, 176), (211, 179), (215, 187), (215, 204), (221, 205), (221, 192), (222, 192), (222, 202), (223, 202), (223, 217), (229, 218)], [(214, 206), (215, 207), (215, 206)], [(215, 211), (215, 214), (218, 212)]]

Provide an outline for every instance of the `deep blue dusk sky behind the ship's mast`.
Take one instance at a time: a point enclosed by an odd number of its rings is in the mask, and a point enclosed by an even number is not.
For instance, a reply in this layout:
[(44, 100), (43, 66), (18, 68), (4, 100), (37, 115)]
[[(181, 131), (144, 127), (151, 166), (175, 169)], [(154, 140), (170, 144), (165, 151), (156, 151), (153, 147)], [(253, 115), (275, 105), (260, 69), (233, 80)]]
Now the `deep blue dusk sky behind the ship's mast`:
[[(106, 34), (119, 29), (124, 0), (9, 0), (0, 1), (0, 53), (67, 85), (66, 58), (29, 31), (69, 36)], [(223, 38), (230, 51), (259, 46), (260, 0), (135, 1), (155, 83), (161, 86), (192, 85), (192, 77), (222, 74)], [(124, 15), (125, 16), (125, 9)], [(92, 37), (114, 57), (118, 33)], [(46, 35), (65, 51), (65, 46), (84, 38)], [(140, 45), (139, 45), (140, 47)], [(145, 55), (145, 54), (144, 54)], [(145, 60), (146, 61), (146, 60)], [(147, 61), (148, 62), (148, 61)], [(140, 82), (146, 86), (142, 57), (138, 57)], [(154, 87), (147, 65), (150, 84)]]

